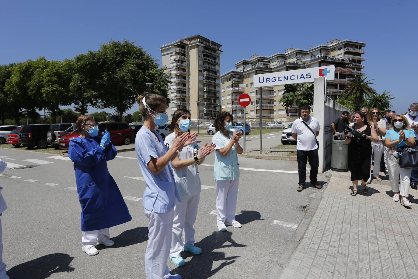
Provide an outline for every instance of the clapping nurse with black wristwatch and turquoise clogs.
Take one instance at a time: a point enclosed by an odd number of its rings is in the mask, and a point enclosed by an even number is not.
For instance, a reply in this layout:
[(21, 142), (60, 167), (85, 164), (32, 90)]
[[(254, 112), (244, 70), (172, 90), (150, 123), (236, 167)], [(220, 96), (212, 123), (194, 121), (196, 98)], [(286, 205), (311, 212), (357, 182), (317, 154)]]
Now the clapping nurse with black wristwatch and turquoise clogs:
[[(178, 109), (173, 114), (169, 135), (164, 143), (167, 148), (173, 145), (173, 140), (183, 133), (190, 133), (191, 113), (184, 108)], [(186, 262), (180, 256), (182, 250), (189, 251), (195, 255), (199, 255), (202, 250), (194, 246), (194, 222), (196, 221), (197, 207), (199, 205), (200, 192), (202, 184), (200, 182), (199, 170), (197, 165), (204, 162), (207, 155), (215, 150), (212, 143), (208, 146), (206, 143), (200, 147), (197, 143), (191, 143), (185, 146), (178, 156), (171, 159), (173, 166), (174, 179), (178, 195), (181, 202), (174, 205), (173, 233), (171, 239), (170, 259), (176, 266), (184, 266)], [(184, 242), (181, 235), (184, 232)]]

